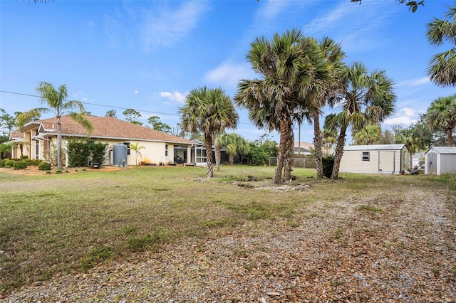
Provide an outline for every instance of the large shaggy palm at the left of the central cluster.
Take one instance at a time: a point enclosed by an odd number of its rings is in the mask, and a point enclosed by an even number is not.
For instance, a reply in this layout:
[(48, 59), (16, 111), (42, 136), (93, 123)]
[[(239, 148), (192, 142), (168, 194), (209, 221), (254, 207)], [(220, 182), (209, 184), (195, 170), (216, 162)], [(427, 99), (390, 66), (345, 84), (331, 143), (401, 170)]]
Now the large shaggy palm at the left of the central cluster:
[(291, 176), (290, 158), (294, 147), (293, 122), (300, 122), (306, 108), (306, 92), (313, 85), (311, 60), (320, 54), (314, 38), (298, 29), (275, 33), (271, 41), (255, 38), (247, 54), (261, 79), (240, 80), (234, 100), (249, 110), (249, 119), (261, 129), (280, 133), (274, 184)]

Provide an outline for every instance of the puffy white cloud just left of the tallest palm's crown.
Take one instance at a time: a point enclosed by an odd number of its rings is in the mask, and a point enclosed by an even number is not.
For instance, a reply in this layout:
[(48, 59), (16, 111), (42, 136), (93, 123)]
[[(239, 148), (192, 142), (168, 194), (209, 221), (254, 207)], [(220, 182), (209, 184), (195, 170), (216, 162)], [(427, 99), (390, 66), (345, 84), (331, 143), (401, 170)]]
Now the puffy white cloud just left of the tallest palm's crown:
[(254, 78), (254, 71), (249, 65), (232, 63), (222, 63), (204, 75), (204, 81), (230, 88), (237, 87), (239, 80), (250, 78)]

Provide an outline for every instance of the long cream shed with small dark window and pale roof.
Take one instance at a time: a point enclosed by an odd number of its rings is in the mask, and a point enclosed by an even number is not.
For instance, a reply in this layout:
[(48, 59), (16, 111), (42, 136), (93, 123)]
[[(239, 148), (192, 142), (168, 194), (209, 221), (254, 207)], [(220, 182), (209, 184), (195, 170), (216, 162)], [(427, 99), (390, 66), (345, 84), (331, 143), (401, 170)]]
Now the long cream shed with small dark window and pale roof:
[(339, 171), (363, 174), (399, 174), (409, 163), (405, 144), (348, 145)]

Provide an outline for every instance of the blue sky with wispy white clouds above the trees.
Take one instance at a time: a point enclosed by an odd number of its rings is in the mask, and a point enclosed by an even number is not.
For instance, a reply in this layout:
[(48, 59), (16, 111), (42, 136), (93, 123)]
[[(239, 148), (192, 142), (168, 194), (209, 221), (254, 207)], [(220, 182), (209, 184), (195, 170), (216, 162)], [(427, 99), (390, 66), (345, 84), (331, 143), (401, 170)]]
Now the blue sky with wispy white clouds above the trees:
[[(443, 18), (453, 3), (425, 0), (413, 14), (395, 0), (1, 0), (0, 107), (12, 115), (40, 106), (28, 95), (46, 81), (66, 84), (69, 99), (85, 102), (92, 115), (113, 109), (125, 119), (123, 110), (133, 108), (145, 124), (158, 116), (175, 127), (193, 88), (222, 87), (233, 97), (240, 79), (256, 76), (245, 58), (255, 37), (300, 28), (340, 42), (346, 63), (386, 70), (398, 100), (383, 129), (408, 126), (432, 100), (455, 93), (427, 80), (428, 60), (449, 47), (430, 46), (425, 36), (426, 23)], [(237, 110), (239, 125), (231, 132), (249, 140), (265, 133)], [(278, 134), (271, 137), (279, 141)], [(312, 126), (303, 124), (301, 141), (312, 137)]]

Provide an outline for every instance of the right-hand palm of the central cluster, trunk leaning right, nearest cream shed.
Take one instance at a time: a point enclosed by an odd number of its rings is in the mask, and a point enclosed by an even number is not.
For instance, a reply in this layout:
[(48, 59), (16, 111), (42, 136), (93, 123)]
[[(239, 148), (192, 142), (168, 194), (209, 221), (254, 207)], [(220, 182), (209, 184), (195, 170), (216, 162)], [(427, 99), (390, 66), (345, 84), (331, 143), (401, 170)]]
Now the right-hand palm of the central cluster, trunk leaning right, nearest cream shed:
[(333, 100), (336, 110), (330, 122), (332, 127), (339, 128), (332, 179), (338, 179), (347, 129), (351, 127), (356, 132), (372, 122), (383, 122), (393, 115), (396, 100), (393, 80), (383, 70), (368, 73), (365, 65), (353, 63), (342, 77), (342, 90)]

